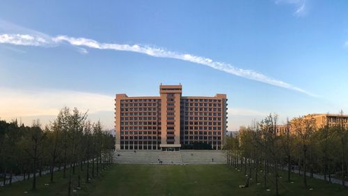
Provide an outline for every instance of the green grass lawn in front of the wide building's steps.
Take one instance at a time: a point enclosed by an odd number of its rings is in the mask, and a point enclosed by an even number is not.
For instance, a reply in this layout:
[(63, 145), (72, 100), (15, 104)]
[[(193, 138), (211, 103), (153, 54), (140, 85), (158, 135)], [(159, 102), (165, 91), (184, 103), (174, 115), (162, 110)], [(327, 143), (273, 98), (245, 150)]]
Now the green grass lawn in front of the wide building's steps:
[[(348, 188), (316, 179), (308, 179), (313, 190), (303, 188), (301, 178), (292, 176), (294, 183), (280, 179), (280, 195), (348, 195)], [(49, 186), (45, 186), (49, 176), (38, 178), (35, 191), (30, 190), (31, 180), (14, 183), (0, 188), (0, 195), (67, 195), (67, 180), (61, 174), (56, 178)], [(239, 188), (244, 183), (244, 174), (228, 165), (113, 165), (73, 195), (275, 195), (272, 186), (270, 191), (262, 187), (262, 181), (258, 185), (252, 180), (249, 188)]]

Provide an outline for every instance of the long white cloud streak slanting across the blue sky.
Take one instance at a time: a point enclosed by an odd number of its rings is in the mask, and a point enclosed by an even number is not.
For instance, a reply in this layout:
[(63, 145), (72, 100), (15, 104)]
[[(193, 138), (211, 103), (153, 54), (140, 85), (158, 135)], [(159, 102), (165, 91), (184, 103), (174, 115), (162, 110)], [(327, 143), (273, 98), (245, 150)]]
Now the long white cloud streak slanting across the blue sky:
[(61, 44), (70, 44), (74, 47), (78, 47), (79, 52), (86, 54), (88, 53), (85, 47), (97, 50), (116, 50), (116, 51), (125, 51), (125, 52), (136, 52), (141, 54), (147, 54), (149, 56), (155, 56), (159, 58), (167, 59), (178, 59), (182, 61), (189, 61), (191, 63), (197, 63), (204, 66), (209, 66), (216, 70), (221, 70), (225, 73), (230, 73), (232, 75), (237, 75), (239, 77), (244, 77), (249, 80), (255, 80), (258, 82), (263, 82), (266, 84), (271, 84), (273, 86), (279, 86), (285, 89), (291, 89), (301, 93), (305, 93), (308, 96), (317, 96), (309, 91), (301, 89), (297, 86), (293, 86), (287, 82), (281, 80), (276, 80), (271, 77), (267, 77), (262, 73), (255, 72), (253, 70), (245, 70), (241, 68), (235, 68), (230, 63), (223, 63), (219, 61), (213, 61), (212, 59), (196, 56), (193, 54), (182, 54), (179, 52), (172, 52), (169, 50), (164, 50), (159, 47), (150, 47), (144, 45), (123, 45), (116, 43), (100, 43), (97, 40), (88, 39), (88, 38), (74, 38), (70, 36), (41, 36), (30, 35), (30, 34), (0, 34), (0, 43), (6, 43), (11, 45), (31, 45), (31, 46), (40, 46), (40, 47), (52, 47), (58, 46)]

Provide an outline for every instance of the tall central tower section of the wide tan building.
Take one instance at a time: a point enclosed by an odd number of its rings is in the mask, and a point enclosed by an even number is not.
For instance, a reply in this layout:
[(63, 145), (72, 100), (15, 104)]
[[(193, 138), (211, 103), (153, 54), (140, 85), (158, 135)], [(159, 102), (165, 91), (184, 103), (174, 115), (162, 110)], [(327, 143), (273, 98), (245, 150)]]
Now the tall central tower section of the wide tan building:
[(182, 85), (160, 85), (161, 149), (178, 150), (180, 144), (180, 99)]

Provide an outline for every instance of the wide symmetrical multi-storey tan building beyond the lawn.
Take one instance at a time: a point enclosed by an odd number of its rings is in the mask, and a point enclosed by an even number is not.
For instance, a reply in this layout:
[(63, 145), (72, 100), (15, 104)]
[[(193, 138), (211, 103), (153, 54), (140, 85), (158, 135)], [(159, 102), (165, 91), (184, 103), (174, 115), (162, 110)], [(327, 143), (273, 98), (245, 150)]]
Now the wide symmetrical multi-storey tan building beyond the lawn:
[(227, 128), (226, 94), (182, 96), (182, 85), (160, 85), (159, 96), (116, 94), (116, 149), (179, 150), (205, 143), (222, 149)]

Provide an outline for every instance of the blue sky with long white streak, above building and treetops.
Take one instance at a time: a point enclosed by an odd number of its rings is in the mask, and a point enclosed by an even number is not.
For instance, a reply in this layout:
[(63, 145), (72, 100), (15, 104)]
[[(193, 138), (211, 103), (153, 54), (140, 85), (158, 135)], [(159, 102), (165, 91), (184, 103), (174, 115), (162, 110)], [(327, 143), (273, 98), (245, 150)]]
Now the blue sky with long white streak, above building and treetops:
[(116, 93), (228, 96), (228, 130), (348, 112), (348, 1), (1, 1), (0, 118), (62, 107), (114, 127)]

